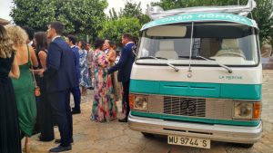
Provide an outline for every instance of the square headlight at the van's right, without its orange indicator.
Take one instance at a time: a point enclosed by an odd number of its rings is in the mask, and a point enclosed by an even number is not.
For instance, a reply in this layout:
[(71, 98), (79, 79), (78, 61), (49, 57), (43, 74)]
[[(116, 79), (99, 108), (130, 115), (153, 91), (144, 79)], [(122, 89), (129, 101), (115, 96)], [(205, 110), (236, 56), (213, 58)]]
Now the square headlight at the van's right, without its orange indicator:
[(253, 118), (253, 103), (235, 101), (233, 118), (251, 120)]

